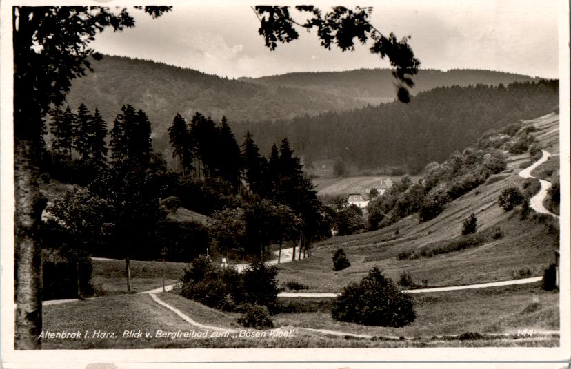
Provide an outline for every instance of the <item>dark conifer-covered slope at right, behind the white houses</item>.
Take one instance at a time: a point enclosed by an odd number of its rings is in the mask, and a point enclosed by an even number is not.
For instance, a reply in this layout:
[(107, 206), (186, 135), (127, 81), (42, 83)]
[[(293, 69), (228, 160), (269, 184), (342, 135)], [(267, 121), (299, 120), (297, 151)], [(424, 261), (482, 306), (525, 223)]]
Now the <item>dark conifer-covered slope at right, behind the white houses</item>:
[(266, 153), (272, 143), (288, 137), (306, 164), (335, 159), (359, 169), (404, 165), (414, 173), (473, 145), (489, 129), (548, 114), (558, 106), (559, 82), (539, 81), (439, 87), (417, 94), (408, 105), (230, 125), (237, 137), (249, 129)]

